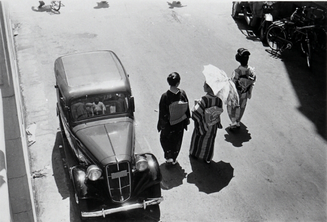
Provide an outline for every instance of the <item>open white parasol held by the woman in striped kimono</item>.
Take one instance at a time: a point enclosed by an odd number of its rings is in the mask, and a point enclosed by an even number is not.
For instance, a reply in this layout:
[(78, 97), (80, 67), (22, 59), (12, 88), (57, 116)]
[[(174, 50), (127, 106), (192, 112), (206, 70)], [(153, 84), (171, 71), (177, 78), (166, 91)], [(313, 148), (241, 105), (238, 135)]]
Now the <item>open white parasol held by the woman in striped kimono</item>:
[(224, 104), (228, 104), (233, 108), (238, 106), (239, 97), (235, 84), (228, 78), (226, 73), (214, 65), (203, 65), (203, 75), (206, 83), (210, 86), (213, 93), (219, 97)]

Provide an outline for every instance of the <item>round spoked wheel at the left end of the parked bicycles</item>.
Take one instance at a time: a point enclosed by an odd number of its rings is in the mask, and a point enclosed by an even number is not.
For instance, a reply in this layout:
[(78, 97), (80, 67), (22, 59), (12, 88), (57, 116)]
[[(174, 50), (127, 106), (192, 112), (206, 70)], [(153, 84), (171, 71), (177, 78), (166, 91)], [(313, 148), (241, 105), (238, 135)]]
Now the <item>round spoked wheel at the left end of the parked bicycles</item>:
[(273, 51), (280, 51), (285, 48), (286, 33), (281, 27), (277, 25), (270, 26), (266, 37), (267, 43)]

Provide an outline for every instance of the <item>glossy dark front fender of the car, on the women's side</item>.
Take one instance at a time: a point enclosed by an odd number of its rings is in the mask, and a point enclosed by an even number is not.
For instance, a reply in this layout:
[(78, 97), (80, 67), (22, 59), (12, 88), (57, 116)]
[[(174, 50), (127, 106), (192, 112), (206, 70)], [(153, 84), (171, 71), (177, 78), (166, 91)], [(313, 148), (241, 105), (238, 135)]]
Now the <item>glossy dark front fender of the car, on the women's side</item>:
[(160, 173), (160, 166), (153, 154), (141, 154), (139, 156), (144, 157), (149, 167), (147, 170), (139, 172), (134, 171), (133, 179), (133, 196), (137, 196), (139, 193), (144, 191), (146, 188), (151, 187), (157, 183), (160, 183), (162, 176)]

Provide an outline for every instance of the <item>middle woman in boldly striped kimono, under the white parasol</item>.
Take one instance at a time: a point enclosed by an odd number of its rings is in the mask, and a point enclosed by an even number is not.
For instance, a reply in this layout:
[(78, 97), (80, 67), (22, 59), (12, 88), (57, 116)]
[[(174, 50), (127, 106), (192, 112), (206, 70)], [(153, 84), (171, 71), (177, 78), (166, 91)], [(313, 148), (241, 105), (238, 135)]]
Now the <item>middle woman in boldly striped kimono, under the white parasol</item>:
[(222, 128), (220, 124), (222, 101), (217, 96), (214, 96), (212, 89), (207, 83), (204, 83), (203, 89), (207, 95), (202, 97), (192, 109), (194, 131), (190, 155), (193, 158), (202, 159), (209, 164), (213, 157), (217, 129)]

